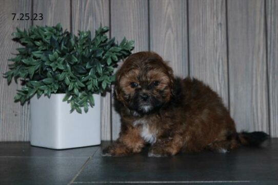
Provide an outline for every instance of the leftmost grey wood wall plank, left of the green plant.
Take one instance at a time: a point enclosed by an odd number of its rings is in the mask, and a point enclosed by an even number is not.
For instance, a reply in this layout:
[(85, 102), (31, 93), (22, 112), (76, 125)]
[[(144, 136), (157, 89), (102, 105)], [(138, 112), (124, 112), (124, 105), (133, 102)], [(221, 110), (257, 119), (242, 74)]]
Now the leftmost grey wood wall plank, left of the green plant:
[(17, 53), (15, 48), (19, 44), (12, 41), (11, 33), (16, 27), (28, 29), (31, 20), (12, 20), (11, 13), (30, 13), (31, 1), (1, 1), (0, 6), (0, 141), (28, 141), (30, 130), (29, 106), (21, 106), (14, 103), (16, 89), (19, 84), (8, 86), (3, 73), (8, 70), (8, 58), (13, 57), (11, 53)]

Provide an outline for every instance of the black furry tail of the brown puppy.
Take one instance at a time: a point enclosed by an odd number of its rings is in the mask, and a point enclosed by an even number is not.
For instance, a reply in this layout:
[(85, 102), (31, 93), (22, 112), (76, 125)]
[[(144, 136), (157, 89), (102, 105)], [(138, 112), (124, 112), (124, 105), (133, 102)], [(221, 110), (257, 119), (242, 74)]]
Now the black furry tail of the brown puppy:
[(237, 136), (241, 145), (251, 147), (258, 147), (269, 138), (265, 132), (241, 132)]

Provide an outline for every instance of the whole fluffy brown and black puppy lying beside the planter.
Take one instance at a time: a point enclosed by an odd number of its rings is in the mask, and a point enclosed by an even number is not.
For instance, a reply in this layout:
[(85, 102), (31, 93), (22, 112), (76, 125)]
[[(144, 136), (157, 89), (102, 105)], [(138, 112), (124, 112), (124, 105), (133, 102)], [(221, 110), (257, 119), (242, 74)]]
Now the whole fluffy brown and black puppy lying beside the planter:
[(121, 114), (120, 137), (105, 156), (137, 153), (150, 143), (149, 156), (204, 149), (226, 152), (260, 145), (264, 132), (236, 133), (222, 99), (197, 79), (174, 78), (154, 52), (130, 55), (116, 75), (115, 100)]

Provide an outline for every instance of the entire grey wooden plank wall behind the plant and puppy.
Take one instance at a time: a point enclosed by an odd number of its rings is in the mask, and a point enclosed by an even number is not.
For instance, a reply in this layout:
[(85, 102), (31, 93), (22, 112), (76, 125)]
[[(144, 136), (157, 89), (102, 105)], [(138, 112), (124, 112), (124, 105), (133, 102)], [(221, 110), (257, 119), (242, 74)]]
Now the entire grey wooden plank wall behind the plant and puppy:
[[(11, 13), (43, 13), (42, 21)], [(55, 25), (77, 33), (100, 23), (109, 36), (135, 40), (135, 50), (162, 55), (177, 76), (202, 79), (223, 97), (237, 130), (278, 137), (278, 1), (276, 0), (2, 0), (0, 72), (18, 45), (16, 27)], [(14, 104), (20, 85), (0, 76), (0, 141), (28, 141), (29, 106)], [(110, 92), (102, 98), (102, 140), (116, 139), (120, 116)]]

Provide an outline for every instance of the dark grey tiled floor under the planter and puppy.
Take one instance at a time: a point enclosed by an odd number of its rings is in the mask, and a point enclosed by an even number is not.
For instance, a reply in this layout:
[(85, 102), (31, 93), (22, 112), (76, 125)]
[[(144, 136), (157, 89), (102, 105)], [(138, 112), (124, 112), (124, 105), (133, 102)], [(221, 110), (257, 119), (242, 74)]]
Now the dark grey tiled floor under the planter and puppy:
[(0, 142), (0, 184), (278, 184), (278, 139), (261, 148), (168, 158), (147, 157), (147, 149), (102, 157), (99, 146), (56, 151)]

